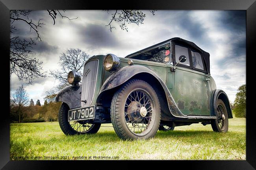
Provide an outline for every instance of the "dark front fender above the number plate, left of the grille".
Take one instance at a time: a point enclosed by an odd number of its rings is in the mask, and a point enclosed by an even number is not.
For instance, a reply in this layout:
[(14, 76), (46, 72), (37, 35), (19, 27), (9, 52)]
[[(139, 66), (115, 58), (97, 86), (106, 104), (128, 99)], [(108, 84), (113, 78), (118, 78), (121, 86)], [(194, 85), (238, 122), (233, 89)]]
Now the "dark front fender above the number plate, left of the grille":
[(55, 101), (66, 103), (70, 109), (81, 107), (81, 93), (82, 85), (70, 85), (57, 94)]

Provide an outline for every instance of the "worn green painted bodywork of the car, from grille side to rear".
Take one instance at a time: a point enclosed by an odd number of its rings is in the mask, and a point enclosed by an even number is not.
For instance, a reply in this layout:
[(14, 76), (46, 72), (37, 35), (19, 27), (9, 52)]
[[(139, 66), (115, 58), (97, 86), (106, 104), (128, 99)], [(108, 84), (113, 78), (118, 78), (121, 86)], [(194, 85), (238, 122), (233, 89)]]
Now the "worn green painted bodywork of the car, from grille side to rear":
[[(97, 83), (93, 99), (93, 103), (96, 103), (100, 88), (110, 73), (104, 70), (104, 55), (95, 56), (94, 58), (99, 60)], [(120, 67), (127, 66), (128, 60), (130, 59), (120, 57)], [(176, 72), (171, 72), (171, 67), (173, 67), (171, 64), (137, 59), (132, 60), (134, 65), (147, 67), (160, 76), (183, 114), (210, 116), (210, 96), (212, 96), (213, 90), (216, 89), (215, 81), (210, 75), (179, 66), (176, 67)], [(210, 82), (205, 81), (206, 78), (210, 78)]]

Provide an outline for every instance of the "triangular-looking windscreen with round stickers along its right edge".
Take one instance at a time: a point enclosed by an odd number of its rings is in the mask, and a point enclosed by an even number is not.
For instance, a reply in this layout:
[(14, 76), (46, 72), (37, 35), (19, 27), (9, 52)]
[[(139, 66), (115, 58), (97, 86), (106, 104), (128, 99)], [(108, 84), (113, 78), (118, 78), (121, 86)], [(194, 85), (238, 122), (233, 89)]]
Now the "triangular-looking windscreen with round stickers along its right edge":
[(131, 58), (145, 60), (145, 61), (155, 61), (159, 63), (170, 63), (171, 61), (171, 44), (167, 43), (156, 47), (152, 50), (139, 53), (139, 55), (133, 56)]

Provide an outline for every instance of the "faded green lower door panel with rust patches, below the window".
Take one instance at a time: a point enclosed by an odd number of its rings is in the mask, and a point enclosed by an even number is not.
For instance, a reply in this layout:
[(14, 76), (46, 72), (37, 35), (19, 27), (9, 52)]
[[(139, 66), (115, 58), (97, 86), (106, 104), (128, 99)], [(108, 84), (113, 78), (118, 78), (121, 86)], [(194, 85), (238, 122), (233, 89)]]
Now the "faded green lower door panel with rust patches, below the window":
[(210, 75), (176, 67), (173, 97), (184, 103), (179, 105), (183, 114), (210, 116), (211, 89), (206, 78)]

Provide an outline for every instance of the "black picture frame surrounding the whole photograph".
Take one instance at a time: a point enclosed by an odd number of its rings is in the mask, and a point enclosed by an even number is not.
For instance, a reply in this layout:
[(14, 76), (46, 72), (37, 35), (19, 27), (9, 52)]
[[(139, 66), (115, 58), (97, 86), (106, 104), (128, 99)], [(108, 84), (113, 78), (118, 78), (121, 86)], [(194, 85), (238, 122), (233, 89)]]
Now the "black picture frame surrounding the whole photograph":
[[(186, 166), (189, 169), (246, 169), (256, 168), (256, 126), (254, 106), (254, 61), (255, 54), (253, 45), (256, 44), (256, 0), (130, 0), (126, 2), (114, 1), (84, 1), (84, 0), (0, 0), (0, 44), (1, 50), (1, 67), (2, 67), (2, 113), (0, 123), (0, 168), (2, 169), (48, 169), (58, 167), (67, 168), (68, 165), (82, 165), (85, 168), (91, 166), (103, 165), (108, 166), (114, 161), (10, 161), (9, 160), (9, 92), (6, 86), (10, 83), (10, 77), (6, 71), (9, 70), (9, 10), (10, 9), (170, 9), (170, 10), (246, 10), (247, 27), (246, 27), (246, 75), (247, 75), (247, 119), (246, 119), (246, 160), (245, 161), (141, 161), (143, 168), (152, 166), (153, 164), (166, 164), (166, 168)], [(118, 6), (119, 5), (119, 6)], [(237, 67), (244, 67), (237, 66)], [(9, 82), (9, 83), (8, 83)], [(10, 84), (9, 84), (10, 85)], [(129, 167), (128, 161), (121, 161), (121, 164)], [(122, 166), (117, 166), (122, 167)], [(132, 166), (130, 166), (132, 167)], [(163, 167), (163, 166), (161, 166)]]

